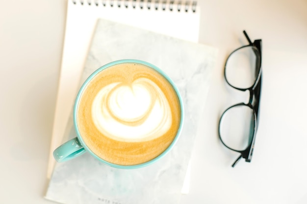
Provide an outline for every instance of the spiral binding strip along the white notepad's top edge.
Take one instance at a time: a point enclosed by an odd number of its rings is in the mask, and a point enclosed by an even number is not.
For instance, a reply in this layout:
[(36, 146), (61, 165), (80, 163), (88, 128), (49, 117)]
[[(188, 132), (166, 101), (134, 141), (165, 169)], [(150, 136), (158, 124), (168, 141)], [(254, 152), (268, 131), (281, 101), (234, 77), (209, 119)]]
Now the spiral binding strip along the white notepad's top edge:
[(95, 6), (111, 6), (111, 7), (124, 7), (124, 8), (136, 8), (140, 9), (155, 9), (155, 10), (177, 10), (188, 12), (189, 10), (196, 12), (196, 0), (72, 0), (74, 4), (88, 4)]

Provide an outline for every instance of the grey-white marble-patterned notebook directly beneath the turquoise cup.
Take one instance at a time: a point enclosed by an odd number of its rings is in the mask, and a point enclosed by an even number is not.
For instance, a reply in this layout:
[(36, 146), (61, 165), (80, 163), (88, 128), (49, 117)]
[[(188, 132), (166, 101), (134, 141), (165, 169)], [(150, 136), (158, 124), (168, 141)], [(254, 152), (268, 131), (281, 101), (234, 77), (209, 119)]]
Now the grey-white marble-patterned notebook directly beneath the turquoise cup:
[[(45, 198), (62, 204), (179, 204), (217, 50), (129, 25), (98, 20), (80, 85), (97, 68), (138, 59), (161, 68), (184, 103), (181, 136), (162, 159), (140, 169), (115, 169), (90, 154), (55, 165)], [(64, 141), (75, 137), (72, 114)]]

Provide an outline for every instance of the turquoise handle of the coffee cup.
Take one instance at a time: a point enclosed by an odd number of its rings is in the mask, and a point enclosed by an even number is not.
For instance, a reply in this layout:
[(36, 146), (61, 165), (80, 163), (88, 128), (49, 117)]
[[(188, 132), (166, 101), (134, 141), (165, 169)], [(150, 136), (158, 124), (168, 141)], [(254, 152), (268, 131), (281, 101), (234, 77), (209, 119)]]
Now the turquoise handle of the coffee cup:
[(75, 137), (56, 148), (53, 151), (53, 157), (57, 162), (63, 162), (74, 159), (85, 152), (86, 150), (81, 145), (79, 139)]

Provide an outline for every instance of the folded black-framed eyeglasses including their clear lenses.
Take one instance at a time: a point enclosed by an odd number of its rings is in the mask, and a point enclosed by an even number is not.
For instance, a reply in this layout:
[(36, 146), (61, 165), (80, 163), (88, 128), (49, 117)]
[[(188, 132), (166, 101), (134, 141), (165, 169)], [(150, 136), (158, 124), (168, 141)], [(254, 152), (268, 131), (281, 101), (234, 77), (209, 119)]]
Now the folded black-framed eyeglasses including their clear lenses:
[(238, 91), (249, 91), (248, 103), (238, 103), (224, 111), (219, 122), (219, 138), (230, 150), (240, 153), (232, 167), (241, 159), (251, 162), (259, 121), (261, 94), (261, 40), (250, 40), (243, 31), (249, 45), (235, 49), (228, 56), (224, 77), (230, 87)]

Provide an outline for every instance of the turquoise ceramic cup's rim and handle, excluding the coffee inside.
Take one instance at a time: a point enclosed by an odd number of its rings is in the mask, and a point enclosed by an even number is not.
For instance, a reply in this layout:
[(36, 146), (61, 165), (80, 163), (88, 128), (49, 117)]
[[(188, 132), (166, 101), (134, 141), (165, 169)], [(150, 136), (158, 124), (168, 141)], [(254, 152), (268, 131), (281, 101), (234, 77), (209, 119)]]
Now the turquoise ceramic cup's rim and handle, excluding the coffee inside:
[[(116, 164), (116, 163), (112, 163), (109, 161), (106, 161), (104, 159), (101, 159), (99, 156), (97, 156), (89, 146), (87, 146), (84, 142), (84, 139), (82, 137), (82, 134), (80, 133), (80, 130), (78, 128), (77, 125), (77, 109), (78, 109), (78, 105), (79, 105), (79, 101), (81, 98), (81, 95), (83, 93), (83, 91), (85, 91), (85, 87), (88, 85), (89, 82), (91, 82), (93, 80), (93, 78), (100, 73), (102, 70), (106, 69), (106, 68), (110, 68), (114, 65), (119, 65), (119, 64), (124, 64), (124, 63), (136, 63), (136, 64), (140, 64), (140, 65), (145, 65), (147, 67), (150, 67), (152, 69), (154, 69), (155, 71), (157, 71), (160, 75), (162, 75), (168, 82), (169, 84), (172, 86), (174, 92), (176, 93), (178, 100), (179, 100), (179, 109), (180, 109), (180, 119), (179, 119), (179, 127), (177, 130), (177, 134), (174, 137), (174, 139), (171, 141), (170, 145), (161, 153), (159, 154), (157, 157), (145, 161), (143, 163), (139, 163), (139, 164), (133, 164), (133, 165), (121, 165), (121, 164)], [(76, 130), (76, 134), (77, 136), (73, 139), (70, 139), (69, 141), (65, 142), (64, 144), (60, 145), (58, 148), (56, 148), (53, 152), (53, 157), (56, 161), (58, 162), (63, 162), (63, 161), (68, 161), (70, 159), (74, 159), (80, 155), (82, 155), (85, 152), (88, 152), (89, 154), (91, 154), (95, 159), (101, 161), (102, 163), (115, 167), (115, 168), (122, 168), (122, 169), (134, 169), (134, 168), (140, 168), (140, 167), (144, 167), (147, 166), (149, 164), (152, 164), (153, 162), (161, 159), (163, 156), (165, 156), (176, 144), (177, 140), (179, 139), (180, 133), (181, 133), (181, 129), (183, 126), (183, 118), (184, 118), (184, 110), (183, 110), (183, 102), (182, 102), (182, 98), (181, 95), (179, 93), (178, 88), (176, 87), (175, 83), (160, 69), (157, 68), (156, 66), (144, 62), (144, 61), (140, 61), (140, 60), (132, 60), (132, 59), (127, 59), (127, 60), (118, 60), (118, 61), (114, 61), (111, 63), (108, 63), (104, 66), (102, 66), (101, 68), (97, 69), (95, 72), (93, 72), (87, 79), (86, 81), (83, 83), (83, 85), (81, 86), (78, 94), (77, 94), (77, 98), (75, 101), (75, 106), (74, 106), (74, 111), (73, 111), (73, 120), (74, 120), (74, 127)]]

